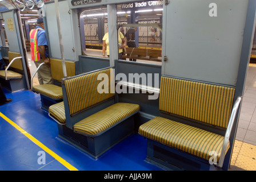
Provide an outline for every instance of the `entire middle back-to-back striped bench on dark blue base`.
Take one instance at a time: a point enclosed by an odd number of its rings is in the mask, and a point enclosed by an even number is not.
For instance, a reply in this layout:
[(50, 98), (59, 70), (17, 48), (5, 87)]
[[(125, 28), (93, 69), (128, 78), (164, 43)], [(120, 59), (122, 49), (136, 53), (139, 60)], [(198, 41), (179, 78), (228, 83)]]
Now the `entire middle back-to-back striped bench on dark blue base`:
[[(98, 92), (100, 74), (109, 78), (104, 80), (109, 85), (106, 93)], [(134, 115), (139, 111), (137, 104), (115, 102), (111, 77), (113, 68), (63, 79), (63, 102), (49, 107), (49, 116), (58, 123), (59, 137), (94, 159), (134, 133)]]

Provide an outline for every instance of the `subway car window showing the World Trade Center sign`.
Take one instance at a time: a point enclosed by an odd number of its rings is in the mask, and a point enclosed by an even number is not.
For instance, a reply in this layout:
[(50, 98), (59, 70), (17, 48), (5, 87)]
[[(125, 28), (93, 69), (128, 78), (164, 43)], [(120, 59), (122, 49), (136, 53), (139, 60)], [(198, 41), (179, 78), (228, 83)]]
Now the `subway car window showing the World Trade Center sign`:
[(119, 31), (127, 44), (122, 60), (161, 64), (162, 8), (162, 1), (117, 5)]

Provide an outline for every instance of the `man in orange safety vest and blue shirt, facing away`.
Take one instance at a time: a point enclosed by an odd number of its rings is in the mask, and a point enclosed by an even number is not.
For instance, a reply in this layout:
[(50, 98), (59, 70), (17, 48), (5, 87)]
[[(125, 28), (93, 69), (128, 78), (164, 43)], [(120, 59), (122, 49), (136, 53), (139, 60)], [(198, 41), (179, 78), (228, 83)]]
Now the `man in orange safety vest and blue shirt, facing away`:
[(37, 19), (37, 26), (35, 29), (30, 31), (30, 46), (31, 60), (34, 61), (35, 66), (38, 68), (41, 63), (45, 63), (37, 72), (39, 84), (53, 84), (48, 44), (45, 36), (45, 26), (43, 24), (42, 17)]

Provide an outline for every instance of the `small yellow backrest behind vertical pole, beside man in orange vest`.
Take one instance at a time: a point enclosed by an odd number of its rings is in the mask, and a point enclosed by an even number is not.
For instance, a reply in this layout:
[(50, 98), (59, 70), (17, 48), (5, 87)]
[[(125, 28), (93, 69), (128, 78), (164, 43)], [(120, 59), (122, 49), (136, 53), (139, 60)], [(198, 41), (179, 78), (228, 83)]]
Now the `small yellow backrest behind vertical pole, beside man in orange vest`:
[[(65, 61), (67, 77), (75, 76), (75, 62)], [(51, 59), (51, 76), (54, 80), (61, 81), (63, 76), (62, 61), (59, 59)]]

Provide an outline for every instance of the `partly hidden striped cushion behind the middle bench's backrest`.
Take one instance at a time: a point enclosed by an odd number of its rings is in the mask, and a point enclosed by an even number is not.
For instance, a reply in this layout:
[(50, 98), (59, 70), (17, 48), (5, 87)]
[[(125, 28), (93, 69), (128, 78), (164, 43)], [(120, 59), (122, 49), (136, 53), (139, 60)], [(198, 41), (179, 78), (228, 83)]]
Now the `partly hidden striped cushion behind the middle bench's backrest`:
[(64, 102), (59, 102), (58, 104), (51, 105), (49, 107), (49, 114), (57, 119), (60, 123), (66, 123), (65, 107)]

